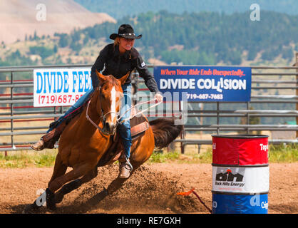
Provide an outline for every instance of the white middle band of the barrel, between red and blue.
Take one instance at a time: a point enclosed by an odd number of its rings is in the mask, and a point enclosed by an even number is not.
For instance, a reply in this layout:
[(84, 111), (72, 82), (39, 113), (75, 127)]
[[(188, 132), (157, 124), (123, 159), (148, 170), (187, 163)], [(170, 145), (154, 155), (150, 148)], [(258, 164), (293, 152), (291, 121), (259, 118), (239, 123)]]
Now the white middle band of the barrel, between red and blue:
[(212, 190), (261, 193), (269, 191), (269, 167), (212, 166)]

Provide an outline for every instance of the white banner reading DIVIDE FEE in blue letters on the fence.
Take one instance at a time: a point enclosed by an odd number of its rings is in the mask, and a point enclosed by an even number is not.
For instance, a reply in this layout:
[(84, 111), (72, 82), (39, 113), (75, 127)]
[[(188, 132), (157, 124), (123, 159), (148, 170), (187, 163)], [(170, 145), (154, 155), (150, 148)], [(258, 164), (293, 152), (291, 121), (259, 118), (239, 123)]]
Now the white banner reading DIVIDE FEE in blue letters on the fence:
[(91, 68), (35, 69), (34, 107), (73, 105), (91, 88)]

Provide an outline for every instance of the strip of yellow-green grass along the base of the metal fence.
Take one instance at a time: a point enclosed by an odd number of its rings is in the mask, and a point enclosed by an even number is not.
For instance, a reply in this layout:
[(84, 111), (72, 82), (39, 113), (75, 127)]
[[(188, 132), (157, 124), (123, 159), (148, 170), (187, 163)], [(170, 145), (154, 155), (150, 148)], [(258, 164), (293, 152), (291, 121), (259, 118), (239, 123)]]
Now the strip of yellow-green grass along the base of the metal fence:
[[(42, 152), (18, 151), (0, 154), (0, 168), (24, 168), (24, 167), (53, 167), (58, 150), (46, 150)], [(208, 148), (205, 152), (185, 151), (181, 154), (180, 150), (166, 152), (165, 150), (155, 150), (148, 163), (212, 163), (212, 149)], [(276, 162), (298, 162), (297, 144), (270, 145), (269, 163)]]

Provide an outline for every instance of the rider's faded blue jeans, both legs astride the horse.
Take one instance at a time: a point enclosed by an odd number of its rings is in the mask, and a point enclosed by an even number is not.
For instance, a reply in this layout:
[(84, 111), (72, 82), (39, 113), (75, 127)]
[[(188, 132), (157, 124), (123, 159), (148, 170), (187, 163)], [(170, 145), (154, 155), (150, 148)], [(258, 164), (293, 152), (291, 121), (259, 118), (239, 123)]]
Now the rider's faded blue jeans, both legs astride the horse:
[[(125, 113), (125, 111), (131, 107), (131, 88), (132, 88), (131, 84), (125, 84), (122, 86), (123, 100), (120, 107), (120, 113), (119, 113), (120, 115), (123, 115), (123, 113)], [(67, 115), (69, 115), (74, 110), (80, 108), (81, 105), (86, 103), (86, 100), (88, 100), (88, 98), (93, 93), (93, 91), (94, 89), (91, 88), (84, 95), (82, 95), (81, 98), (79, 98), (76, 101), (76, 103), (73, 106), (71, 106), (71, 108), (69, 108), (68, 111), (64, 113), (64, 115), (57, 120), (58, 125), (60, 125), (63, 122), (63, 120), (65, 120)], [(125, 113), (125, 115), (123, 115), (120, 121), (129, 117), (130, 117), (130, 110), (127, 113)], [(53, 130), (53, 128), (49, 128), (48, 132), (50, 132), (51, 130)], [(132, 144), (131, 133), (130, 133), (130, 120), (126, 120), (122, 124), (118, 125), (118, 131), (119, 131), (120, 137), (122, 138), (125, 155), (126, 157), (130, 157), (130, 147)]]

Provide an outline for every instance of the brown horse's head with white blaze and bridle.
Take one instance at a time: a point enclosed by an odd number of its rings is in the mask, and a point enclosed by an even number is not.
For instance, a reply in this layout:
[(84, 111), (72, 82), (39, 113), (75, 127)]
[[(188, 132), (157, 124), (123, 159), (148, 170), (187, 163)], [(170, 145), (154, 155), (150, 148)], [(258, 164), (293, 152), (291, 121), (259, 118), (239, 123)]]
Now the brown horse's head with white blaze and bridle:
[(130, 75), (128, 72), (120, 79), (114, 78), (112, 75), (103, 76), (96, 71), (100, 86), (100, 106), (103, 118), (103, 133), (113, 135), (117, 127), (118, 113), (123, 98), (122, 85)]

